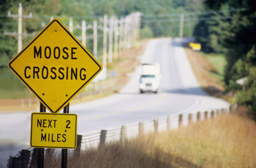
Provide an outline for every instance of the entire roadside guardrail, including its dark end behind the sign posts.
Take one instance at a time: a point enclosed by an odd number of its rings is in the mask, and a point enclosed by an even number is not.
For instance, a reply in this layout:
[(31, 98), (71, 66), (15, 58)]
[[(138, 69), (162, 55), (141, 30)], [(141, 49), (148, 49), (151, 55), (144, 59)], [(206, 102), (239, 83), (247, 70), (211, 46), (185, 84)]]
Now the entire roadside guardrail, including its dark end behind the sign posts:
[[(77, 148), (74, 149), (72, 158), (79, 158), (81, 150), (85, 149), (84, 147), (86, 146), (101, 148), (108, 142), (118, 141), (121, 144), (124, 144), (127, 139), (131, 139), (132, 137), (140, 138), (148, 132), (154, 132), (156, 135), (159, 131), (171, 130), (181, 126), (191, 125), (192, 123), (205, 119), (212, 119), (221, 114), (228, 114), (235, 109), (237, 109), (237, 104), (230, 105), (230, 107), (224, 109), (171, 115), (164, 118), (156, 118), (154, 120), (140, 122), (138, 124), (122, 125), (115, 129), (77, 135)], [(36, 158), (38, 156), (36, 155), (38, 149), (33, 149), (32, 157), (30, 154), (31, 151), (32, 148), (22, 149), (15, 157), (10, 157), (7, 167), (28, 167), (28, 165), (29, 167), (33, 167), (38, 160), (38, 158)], [(54, 149), (47, 149), (45, 153), (45, 162), (51, 162), (53, 154)], [(31, 160), (29, 159), (30, 157)]]

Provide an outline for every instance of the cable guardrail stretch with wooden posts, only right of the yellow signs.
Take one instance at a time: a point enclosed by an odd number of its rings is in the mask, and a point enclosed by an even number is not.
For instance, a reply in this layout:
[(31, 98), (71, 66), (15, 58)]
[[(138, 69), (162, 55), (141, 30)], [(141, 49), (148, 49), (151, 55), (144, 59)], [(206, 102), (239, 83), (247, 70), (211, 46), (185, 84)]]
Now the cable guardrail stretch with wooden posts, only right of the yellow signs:
[(135, 125), (122, 125), (120, 128), (112, 130), (101, 130), (100, 132), (95, 132), (93, 134), (84, 134), (81, 143), (83, 146), (98, 146), (99, 148), (108, 142), (120, 141), (120, 143), (124, 143), (127, 139), (132, 137), (141, 137), (148, 132), (158, 134), (158, 132), (162, 130), (171, 130), (197, 121), (215, 118), (220, 114), (228, 114), (228, 112), (236, 108), (237, 105), (235, 104), (230, 105), (230, 107), (225, 109), (177, 114), (165, 118), (156, 118), (152, 121), (145, 121)]

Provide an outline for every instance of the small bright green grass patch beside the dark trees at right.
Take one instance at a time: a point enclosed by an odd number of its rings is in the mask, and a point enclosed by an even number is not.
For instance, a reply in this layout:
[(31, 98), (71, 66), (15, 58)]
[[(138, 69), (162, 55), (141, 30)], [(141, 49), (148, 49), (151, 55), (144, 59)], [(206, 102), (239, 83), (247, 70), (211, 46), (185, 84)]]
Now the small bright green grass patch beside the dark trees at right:
[(211, 72), (213, 77), (223, 80), (224, 68), (227, 65), (225, 56), (223, 54), (205, 54), (204, 56), (215, 66), (216, 72)]

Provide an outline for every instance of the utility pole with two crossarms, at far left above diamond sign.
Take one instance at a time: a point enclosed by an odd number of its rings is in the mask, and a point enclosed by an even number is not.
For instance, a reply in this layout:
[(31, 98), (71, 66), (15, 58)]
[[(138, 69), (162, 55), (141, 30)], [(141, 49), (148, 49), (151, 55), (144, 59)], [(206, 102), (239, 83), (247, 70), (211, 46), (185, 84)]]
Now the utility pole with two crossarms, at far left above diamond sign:
[(22, 4), (19, 3), (19, 14), (12, 15), (11, 12), (8, 12), (8, 17), (18, 18), (18, 33), (8, 33), (4, 32), (4, 35), (7, 36), (18, 36), (18, 52), (22, 50), (22, 36), (35, 36), (35, 33), (22, 33), (22, 18), (32, 18), (32, 13), (29, 15), (22, 15)]

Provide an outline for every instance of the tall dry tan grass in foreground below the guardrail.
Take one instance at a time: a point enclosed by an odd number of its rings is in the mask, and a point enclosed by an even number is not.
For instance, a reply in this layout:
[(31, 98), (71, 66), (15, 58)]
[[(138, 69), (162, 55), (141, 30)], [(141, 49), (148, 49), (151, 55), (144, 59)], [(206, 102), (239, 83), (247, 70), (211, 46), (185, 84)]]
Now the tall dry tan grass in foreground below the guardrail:
[[(157, 136), (113, 142), (69, 157), (68, 167), (256, 167), (256, 124), (218, 116)], [(58, 167), (60, 157), (47, 167)]]

